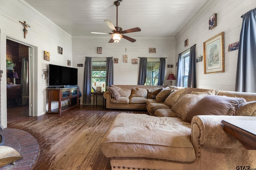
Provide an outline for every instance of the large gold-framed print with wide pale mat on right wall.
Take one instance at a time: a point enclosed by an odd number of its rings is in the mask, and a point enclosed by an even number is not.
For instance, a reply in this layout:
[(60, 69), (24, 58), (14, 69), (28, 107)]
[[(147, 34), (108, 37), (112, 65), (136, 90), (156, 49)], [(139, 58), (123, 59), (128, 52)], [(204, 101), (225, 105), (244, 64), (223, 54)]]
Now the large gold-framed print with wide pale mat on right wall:
[(204, 42), (204, 74), (225, 72), (224, 32)]

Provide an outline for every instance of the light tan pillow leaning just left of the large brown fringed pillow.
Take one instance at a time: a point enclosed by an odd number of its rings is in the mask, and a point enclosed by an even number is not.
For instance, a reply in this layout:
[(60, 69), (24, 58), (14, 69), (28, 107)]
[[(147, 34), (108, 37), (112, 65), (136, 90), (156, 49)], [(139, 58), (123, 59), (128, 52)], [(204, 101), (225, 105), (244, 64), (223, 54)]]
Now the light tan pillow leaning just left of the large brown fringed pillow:
[(177, 116), (183, 121), (186, 121), (186, 115), (198, 101), (207, 96), (208, 93), (204, 94), (185, 94), (182, 96), (174, 106), (172, 110), (176, 112)]

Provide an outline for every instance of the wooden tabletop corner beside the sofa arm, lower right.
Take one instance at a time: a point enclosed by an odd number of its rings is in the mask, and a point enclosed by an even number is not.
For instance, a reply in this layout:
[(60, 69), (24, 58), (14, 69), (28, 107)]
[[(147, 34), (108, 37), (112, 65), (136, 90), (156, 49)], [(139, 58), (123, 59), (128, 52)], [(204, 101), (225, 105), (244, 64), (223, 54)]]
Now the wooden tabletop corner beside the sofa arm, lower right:
[(255, 120), (222, 120), (224, 131), (230, 133), (245, 149), (256, 150)]

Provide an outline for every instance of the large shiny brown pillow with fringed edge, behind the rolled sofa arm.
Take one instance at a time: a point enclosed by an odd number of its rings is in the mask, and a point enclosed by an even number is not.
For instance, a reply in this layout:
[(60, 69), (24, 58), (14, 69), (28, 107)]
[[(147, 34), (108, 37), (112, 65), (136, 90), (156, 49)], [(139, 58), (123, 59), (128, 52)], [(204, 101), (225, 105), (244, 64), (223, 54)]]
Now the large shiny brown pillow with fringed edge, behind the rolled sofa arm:
[(206, 96), (188, 112), (186, 120), (191, 122), (195, 115), (236, 115), (244, 98), (232, 98), (227, 96)]

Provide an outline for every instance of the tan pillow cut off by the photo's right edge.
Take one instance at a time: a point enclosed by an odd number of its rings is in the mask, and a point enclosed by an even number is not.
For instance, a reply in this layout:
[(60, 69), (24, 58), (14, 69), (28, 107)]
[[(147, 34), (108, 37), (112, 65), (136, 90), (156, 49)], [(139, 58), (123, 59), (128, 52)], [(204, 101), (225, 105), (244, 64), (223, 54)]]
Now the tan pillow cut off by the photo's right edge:
[(237, 116), (256, 116), (256, 101), (246, 102), (238, 109)]

